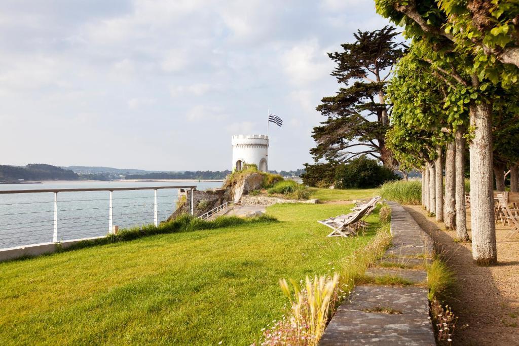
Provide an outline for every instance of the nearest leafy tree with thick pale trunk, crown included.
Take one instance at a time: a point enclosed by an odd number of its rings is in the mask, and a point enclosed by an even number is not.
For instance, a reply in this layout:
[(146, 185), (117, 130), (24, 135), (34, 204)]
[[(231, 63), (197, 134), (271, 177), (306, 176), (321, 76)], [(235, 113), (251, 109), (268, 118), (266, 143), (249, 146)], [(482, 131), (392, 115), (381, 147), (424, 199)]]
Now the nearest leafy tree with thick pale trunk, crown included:
[[(517, 28), (512, 25), (517, 6), (506, 0), (494, 0), (483, 10), (485, 3), (481, 0), (376, 0), (377, 11), (402, 23), (406, 34), (427, 48), (422, 54), (424, 59), (439, 74), (441, 72), (446, 82), (458, 84), (472, 99), (468, 100), (472, 256), (480, 265), (497, 262), (492, 191), (494, 92), (497, 86), (512, 85), (519, 76), (516, 67), (519, 54), (514, 53), (517, 52), (514, 48)], [(499, 23), (490, 23), (485, 30), (474, 24), (480, 10), (491, 13)], [(488, 27), (492, 28), (486, 30)], [(507, 36), (508, 32), (512, 38)], [(517, 63), (513, 65), (516, 55)], [(504, 56), (511, 58), (507, 60)], [(459, 58), (466, 63), (453, 65)]]

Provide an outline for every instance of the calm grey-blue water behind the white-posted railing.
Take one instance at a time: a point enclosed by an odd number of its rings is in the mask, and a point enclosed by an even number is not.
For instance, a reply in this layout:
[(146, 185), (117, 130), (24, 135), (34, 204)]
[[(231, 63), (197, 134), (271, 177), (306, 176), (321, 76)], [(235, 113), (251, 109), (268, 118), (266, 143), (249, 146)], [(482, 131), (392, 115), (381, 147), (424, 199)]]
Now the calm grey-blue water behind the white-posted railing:
[[(196, 185), (198, 190), (220, 187), (222, 182), (46, 182), (0, 184), (0, 190), (45, 190)], [(58, 193), (58, 241), (104, 236), (108, 232), (108, 191)], [(158, 221), (176, 208), (177, 189), (157, 190)], [(114, 191), (113, 224), (119, 228), (152, 224), (154, 191)], [(0, 195), (0, 248), (52, 242), (52, 192)]]

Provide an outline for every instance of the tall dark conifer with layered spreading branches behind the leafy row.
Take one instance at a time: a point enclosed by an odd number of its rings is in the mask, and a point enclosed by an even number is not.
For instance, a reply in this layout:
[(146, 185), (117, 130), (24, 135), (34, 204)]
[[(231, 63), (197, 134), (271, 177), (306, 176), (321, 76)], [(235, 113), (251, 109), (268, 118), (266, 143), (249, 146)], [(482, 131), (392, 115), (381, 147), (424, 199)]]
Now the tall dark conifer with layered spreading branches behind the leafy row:
[[(358, 31), (354, 43), (343, 44), (343, 52), (329, 53), (337, 63), (332, 76), (339, 84), (335, 96), (322, 99), (317, 110), (327, 117), (313, 128), (317, 147), (310, 153), (317, 160), (348, 162), (370, 155), (393, 169), (394, 160), (385, 143), (390, 111), (385, 101), (386, 82), (405, 46), (395, 43), (394, 27), (373, 32)], [(360, 148), (354, 150), (354, 148)]]

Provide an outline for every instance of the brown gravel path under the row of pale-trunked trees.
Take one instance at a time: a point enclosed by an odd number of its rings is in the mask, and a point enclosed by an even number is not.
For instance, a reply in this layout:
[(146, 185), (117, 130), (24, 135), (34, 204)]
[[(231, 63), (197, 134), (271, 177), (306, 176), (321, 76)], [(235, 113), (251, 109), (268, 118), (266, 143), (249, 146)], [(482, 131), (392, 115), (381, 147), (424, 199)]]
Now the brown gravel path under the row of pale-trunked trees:
[[(456, 243), (455, 231), (427, 217), (421, 206), (405, 206), (428, 232), (438, 253), (455, 271), (456, 292), (448, 303), (459, 316), (453, 344), (519, 345), (519, 239), (507, 239), (507, 226), (496, 227), (499, 264), (478, 267), (472, 260), (471, 243)], [(470, 228), (470, 214), (468, 227)], [(470, 235), (470, 230), (469, 230)]]

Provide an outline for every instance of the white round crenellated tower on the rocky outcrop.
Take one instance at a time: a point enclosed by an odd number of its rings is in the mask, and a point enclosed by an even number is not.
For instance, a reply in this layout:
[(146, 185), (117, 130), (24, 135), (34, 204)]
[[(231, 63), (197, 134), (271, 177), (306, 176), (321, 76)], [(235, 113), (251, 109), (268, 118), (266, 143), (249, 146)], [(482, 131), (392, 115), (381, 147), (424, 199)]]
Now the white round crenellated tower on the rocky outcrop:
[(268, 136), (265, 134), (236, 134), (233, 136), (233, 172), (241, 171), (245, 163), (254, 163), (262, 172), (268, 169)]

